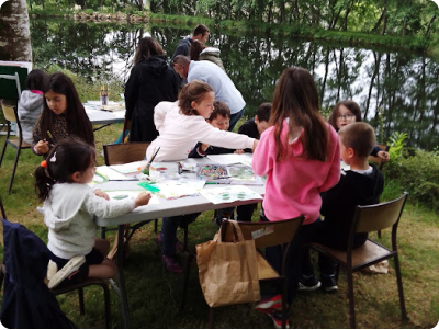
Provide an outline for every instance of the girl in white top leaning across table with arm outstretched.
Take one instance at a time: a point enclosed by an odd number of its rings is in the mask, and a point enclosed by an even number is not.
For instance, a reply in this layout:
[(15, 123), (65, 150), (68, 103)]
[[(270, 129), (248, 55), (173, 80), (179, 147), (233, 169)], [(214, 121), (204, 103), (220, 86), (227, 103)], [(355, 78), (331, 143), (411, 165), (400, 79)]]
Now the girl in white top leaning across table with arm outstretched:
[[(146, 159), (154, 150), (158, 151), (155, 161), (173, 161), (187, 159), (193, 147), (200, 141), (215, 147), (229, 149), (255, 149), (258, 140), (246, 135), (219, 130), (206, 122), (211, 116), (215, 101), (213, 89), (205, 82), (194, 80), (183, 87), (178, 102), (160, 102), (155, 107), (154, 121), (160, 135), (150, 144)], [(199, 214), (189, 214), (162, 219), (161, 259), (165, 268), (171, 273), (181, 273), (176, 260), (177, 228), (195, 220)]]

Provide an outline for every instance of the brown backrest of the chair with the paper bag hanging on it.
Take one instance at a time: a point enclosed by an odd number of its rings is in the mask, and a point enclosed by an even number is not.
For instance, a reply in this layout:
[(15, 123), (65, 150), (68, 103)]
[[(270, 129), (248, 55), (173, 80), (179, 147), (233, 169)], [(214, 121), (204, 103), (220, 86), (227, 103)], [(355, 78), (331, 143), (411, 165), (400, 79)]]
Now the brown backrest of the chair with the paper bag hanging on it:
[[(296, 218), (281, 221), (238, 221), (238, 225), (243, 231), (244, 239), (254, 239), (256, 248), (263, 249), (293, 241), (304, 219), (305, 216), (301, 215)], [(224, 220), (222, 226), (224, 226), (223, 241), (233, 241), (235, 235), (233, 226), (227, 220)]]

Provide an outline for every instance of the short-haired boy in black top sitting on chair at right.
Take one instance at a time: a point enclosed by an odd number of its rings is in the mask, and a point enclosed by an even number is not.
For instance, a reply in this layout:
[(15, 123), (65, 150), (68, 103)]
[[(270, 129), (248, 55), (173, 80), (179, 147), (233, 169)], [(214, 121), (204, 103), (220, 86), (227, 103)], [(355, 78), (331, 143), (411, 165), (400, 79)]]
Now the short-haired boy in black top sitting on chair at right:
[[(375, 132), (372, 126), (364, 122), (357, 122), (342, 127), (338, 134), (341, 157), (350, 166), (350, 170), (341, 170), (338, 184), (322, 194), (320, 214), (324, 220), (316, 225), (315, 235), (311, 240), (345, 251), (356, 206), (379, 203), (384, 180), (380, 170), (368, 162), (368, 157), (375, 146)], [(353, 248), (364, 244), (367, 239), (367, 232), (356, 234)], [(336, 266), (334, 262), (319, 254), (318, 265), (323, 288), (326, 292), (338, 289), (334, 276)], [(312, 291), (320, 286), (314, 277), (308, 250), (304, 255), (302, 274), (299, 289)], [(315, 285), (311, 286), (307, 283)]]

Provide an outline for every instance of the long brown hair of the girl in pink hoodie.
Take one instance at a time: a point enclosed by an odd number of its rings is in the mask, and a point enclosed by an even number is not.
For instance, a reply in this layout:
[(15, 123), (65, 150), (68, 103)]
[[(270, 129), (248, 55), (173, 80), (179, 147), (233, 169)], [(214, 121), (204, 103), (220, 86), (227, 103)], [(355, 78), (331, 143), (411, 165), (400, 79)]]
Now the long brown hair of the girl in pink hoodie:
[(327, 157), (328, 130), (319, 113), (318, 93), (311, 73), (300, 67), (283, 71), (274, 90), (270, 124), (274, 125), (277, 160), (288, 157), (289, 138), (281, 141), (283, 121), (289, 118), (289, 132), (303, 127), (306, 159), (325, 161)]

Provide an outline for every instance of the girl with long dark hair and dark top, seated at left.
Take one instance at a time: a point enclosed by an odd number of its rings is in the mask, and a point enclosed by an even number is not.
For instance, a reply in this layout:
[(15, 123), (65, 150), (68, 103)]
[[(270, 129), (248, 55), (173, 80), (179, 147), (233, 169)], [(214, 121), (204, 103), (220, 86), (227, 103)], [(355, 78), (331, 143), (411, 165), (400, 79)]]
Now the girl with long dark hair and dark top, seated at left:
[(45, 156), (55, 143), (72, 137), (94, 147), (93, 127), (71, 79), (61, 72), (53, 73), (43, 93), (46, 102), (34, 127), (33, 151)]

